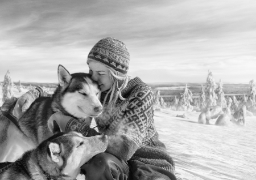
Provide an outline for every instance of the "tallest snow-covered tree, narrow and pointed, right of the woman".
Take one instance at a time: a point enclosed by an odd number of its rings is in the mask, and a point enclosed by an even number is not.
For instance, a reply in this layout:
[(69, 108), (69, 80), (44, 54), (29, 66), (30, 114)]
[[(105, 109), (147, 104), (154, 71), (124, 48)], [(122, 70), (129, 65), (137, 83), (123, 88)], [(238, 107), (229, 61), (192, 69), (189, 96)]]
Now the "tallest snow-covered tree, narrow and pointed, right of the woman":
[(213, 79), (212, 71), (208, 71), (208, 76), (207, 76), (207, 83), (205, 87), (205, 102), (207, 108), (209, 106), (216, 106), (216, 100), (217, 96), (215, 94), (215, 90), (217, 88), (217, 85)]

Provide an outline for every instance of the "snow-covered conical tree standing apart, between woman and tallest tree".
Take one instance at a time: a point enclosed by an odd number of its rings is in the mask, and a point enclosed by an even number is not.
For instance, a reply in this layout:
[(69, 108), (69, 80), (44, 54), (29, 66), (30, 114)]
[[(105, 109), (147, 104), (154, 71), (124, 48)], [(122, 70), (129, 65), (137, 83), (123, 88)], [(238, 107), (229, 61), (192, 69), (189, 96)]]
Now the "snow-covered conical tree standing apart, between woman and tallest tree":
[(192, 92), (190, 89), (187, 88), (187, 84), (185, 85), (183, 93), (180, 93), (180, 98), (179, 98), (179, 110), (192, 110), (193, 107), (191, 106), (192, 100)]

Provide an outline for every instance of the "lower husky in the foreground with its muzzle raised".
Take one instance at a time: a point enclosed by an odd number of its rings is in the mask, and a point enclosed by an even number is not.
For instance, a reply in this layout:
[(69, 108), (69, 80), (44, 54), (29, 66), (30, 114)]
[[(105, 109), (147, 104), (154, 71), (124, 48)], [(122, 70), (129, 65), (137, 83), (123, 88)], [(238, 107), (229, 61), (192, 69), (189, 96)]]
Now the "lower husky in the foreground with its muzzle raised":
[(15, 162), (0, 164), (0, 180), (76, 179), (80, 167), (108, 146), (108, 136), (85, 138), (80, 133), (60, 132), (27, 151)]

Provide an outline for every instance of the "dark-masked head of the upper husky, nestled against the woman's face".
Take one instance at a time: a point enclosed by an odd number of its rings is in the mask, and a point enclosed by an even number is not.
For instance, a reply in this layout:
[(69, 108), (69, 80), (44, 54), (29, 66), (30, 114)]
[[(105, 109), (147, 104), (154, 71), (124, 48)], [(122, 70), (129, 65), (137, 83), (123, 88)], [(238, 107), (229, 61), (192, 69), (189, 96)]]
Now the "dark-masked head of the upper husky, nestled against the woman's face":
[(97, 117), (102, 113), (100, 88), (89, 74), (69, 72), (58, 67), (59, 86), (53, 95), (53, 109), (75, 118)]

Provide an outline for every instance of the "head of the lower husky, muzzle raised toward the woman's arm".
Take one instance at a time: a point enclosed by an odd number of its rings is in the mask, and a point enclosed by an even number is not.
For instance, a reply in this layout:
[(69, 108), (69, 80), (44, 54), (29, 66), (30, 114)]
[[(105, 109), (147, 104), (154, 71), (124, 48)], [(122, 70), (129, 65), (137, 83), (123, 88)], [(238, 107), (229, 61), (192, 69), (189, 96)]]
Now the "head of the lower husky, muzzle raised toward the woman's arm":
[(80, 167), (107, 146), (106, 135), (86, 138), (75, 131), (60, 132), (36, 148), (36, 157), (40, 168), (53, 179), (76, 179)]

